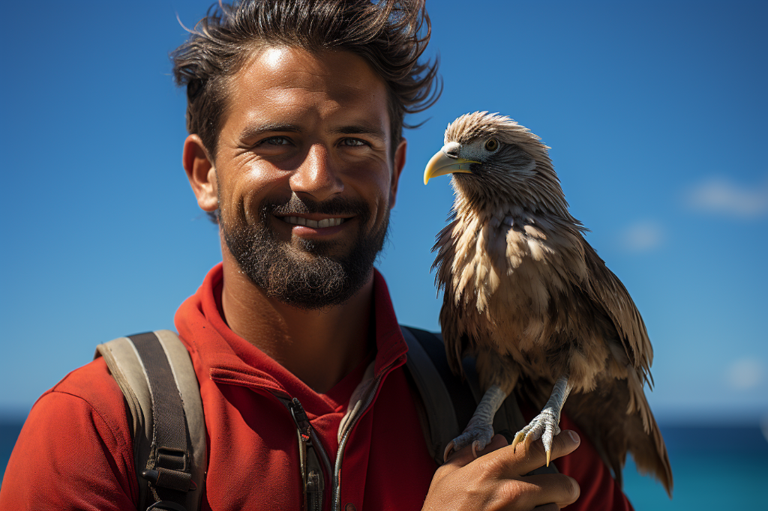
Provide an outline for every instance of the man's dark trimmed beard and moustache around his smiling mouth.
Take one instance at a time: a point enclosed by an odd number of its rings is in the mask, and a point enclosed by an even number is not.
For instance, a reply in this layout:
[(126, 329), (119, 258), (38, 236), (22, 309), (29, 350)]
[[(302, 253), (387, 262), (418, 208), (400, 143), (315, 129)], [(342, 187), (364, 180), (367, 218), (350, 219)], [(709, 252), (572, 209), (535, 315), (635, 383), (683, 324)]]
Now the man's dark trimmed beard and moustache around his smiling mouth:
[[(358, 232), (346, 254), (333, 254), (339, 242), (299, 238), (300, 249), (280, 241), (269, 225), (273, 215), (291, 216), (319, 213), (354, 215)], [(330, 199), (314, 202), (293, 195), (288, 201), (265, 200), (256, 225), (243, 225), (220, 217), (220, 228), (240, 271), (264, 293), (304, 309), (320, 309), (347, 301), (368, 280), (376, 256), (384, 246), (389, 209), (382, 224), (366, 232), (371, 218), (362, 200)], [(278, 220), (279, 221), (279, 220)], [(310, 254), (298, 254), (299, 250)]]

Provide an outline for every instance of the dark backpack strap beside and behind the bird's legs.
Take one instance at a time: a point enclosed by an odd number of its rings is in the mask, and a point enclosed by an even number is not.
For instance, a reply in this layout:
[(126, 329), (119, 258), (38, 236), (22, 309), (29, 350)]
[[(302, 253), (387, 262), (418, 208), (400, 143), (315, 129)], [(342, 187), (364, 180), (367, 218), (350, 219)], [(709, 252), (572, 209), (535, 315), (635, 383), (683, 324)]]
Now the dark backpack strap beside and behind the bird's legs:
[[(400, 329), (408, 344), (406, 368), (412, 388), (417, 391), (417, 411), (427, 448), (435, 462), (442, 465), (445, 447), (461, 434), (483, 397), (475, 359), (467, 357), (462, 361), (462, 379), (448, 366), (442, 335), (403, 325)], [(494, 416), (493, 430), (511, 442), (526, 424), (517, 398), (510, 394)], [(531, 472), (534, 473), (557, 473), (557, 469), (550, 464)]]

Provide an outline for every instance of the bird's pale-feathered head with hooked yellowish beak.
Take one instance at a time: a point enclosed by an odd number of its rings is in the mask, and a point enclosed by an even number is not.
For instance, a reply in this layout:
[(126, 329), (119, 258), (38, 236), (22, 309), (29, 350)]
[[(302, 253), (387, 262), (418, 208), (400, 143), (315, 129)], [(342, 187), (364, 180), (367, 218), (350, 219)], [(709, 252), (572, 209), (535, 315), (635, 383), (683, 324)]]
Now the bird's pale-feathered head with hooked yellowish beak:
[(560, 181), (539, 137), (509, 117), (465, 114), (448, 125), (445, 145), (424, 171), (424, 184), (453, 174), (457, 198), (515, 204), (568, 215)]

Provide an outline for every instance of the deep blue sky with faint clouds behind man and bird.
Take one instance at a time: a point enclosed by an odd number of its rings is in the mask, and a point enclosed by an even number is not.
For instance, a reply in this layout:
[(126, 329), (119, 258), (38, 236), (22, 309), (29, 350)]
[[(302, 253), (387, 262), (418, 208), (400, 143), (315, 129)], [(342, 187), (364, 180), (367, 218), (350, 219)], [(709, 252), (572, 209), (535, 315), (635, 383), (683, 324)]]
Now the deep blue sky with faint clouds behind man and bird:
[[(471, 5), (469, 9), (467, 5)], [(173, 328), (220, 260), (181, 167), (168, 53), (207, 1), (4, 7), (0, 410), (24, 413), (96, 344)], [(571, 212), (655, 348), (660, 419), (768, 416), (768, 4), (428, 3), (444, 93), (411, 121), (378, 263), (402, 323), (437, 329), (445, 126), (509, 115), (552, 147)]]

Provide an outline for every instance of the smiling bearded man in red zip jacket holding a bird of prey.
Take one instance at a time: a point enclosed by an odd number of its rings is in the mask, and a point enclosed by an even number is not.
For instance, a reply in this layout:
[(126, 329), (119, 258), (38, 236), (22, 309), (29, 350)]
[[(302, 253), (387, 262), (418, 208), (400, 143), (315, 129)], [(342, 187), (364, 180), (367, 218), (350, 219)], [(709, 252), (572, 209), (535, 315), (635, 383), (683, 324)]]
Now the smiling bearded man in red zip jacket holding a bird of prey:
[[(427, 453), (373, 269), (405, 165), (403, 115), (433, 100), (424, 22), (417, 0), (243, 1), (174, 55), (183, 165), (223, 256), (176, 315), (205, 412), (202, 509), (302, 507), (294, 398), (337, 467), (324, 509), (332, 496), (345, 510), (557, 509), (580, 487), (576, 508), (629, 508), (594, 449), (574, 452), (573, 432), (553, 447), (573, 453), (558, 460), (568, 475), (524, 475), (544, 462), (540, 442), (514, 452), (497, 436), (489, 454), (439, 468)], [(370, 401), (348, 410), (360, 392)], [(0, 508), (135, 509), (131, 438), (103, 360), (74, 371), (32, 410)]]

